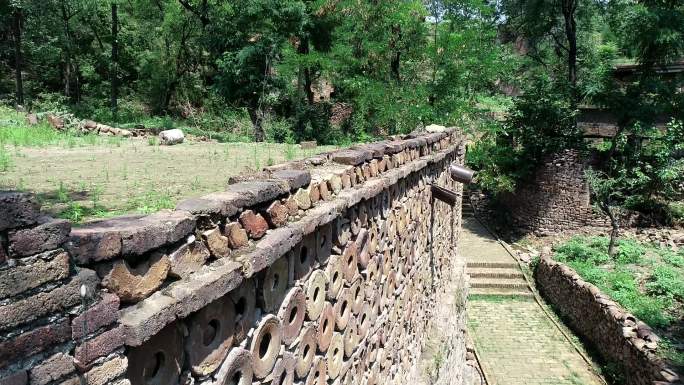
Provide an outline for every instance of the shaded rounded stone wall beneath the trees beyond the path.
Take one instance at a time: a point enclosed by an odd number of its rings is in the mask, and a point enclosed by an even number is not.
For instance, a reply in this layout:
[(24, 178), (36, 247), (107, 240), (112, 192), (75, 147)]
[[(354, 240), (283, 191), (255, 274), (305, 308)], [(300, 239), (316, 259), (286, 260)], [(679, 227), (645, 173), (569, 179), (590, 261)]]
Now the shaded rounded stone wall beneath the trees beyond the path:
[(513, 194), (502, 194), (513, 225), (523, 231), (548, 235), (583, 226), (609, 227), (607, 219), (594, 213), (585, 163), (573, 150), (551, 157), (529, 183)]

